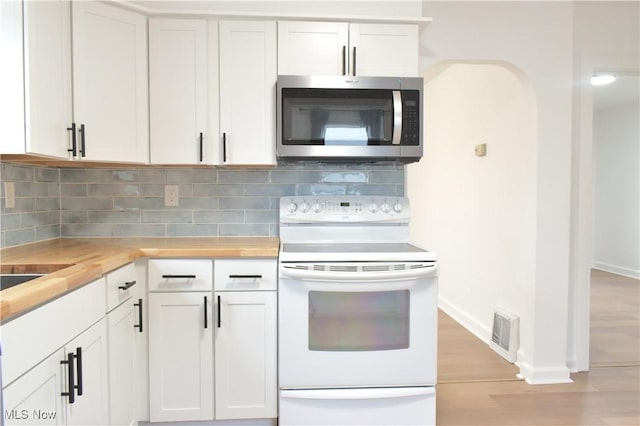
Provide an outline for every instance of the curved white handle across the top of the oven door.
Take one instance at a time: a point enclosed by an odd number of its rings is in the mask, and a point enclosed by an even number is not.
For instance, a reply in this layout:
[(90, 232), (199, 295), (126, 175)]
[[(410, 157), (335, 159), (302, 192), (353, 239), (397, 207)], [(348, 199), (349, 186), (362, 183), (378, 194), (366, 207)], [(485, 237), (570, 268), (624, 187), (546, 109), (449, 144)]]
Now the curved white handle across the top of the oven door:
[(390, 272), (336, 272), (298, 269), (295, 265), (280, 264), (280, 273), (284, 277), (296, 278), (302, 281), (373, 283), (435, 277), (438, 274), (438, 267), (434, 264), (423, 266), (420, 269)]

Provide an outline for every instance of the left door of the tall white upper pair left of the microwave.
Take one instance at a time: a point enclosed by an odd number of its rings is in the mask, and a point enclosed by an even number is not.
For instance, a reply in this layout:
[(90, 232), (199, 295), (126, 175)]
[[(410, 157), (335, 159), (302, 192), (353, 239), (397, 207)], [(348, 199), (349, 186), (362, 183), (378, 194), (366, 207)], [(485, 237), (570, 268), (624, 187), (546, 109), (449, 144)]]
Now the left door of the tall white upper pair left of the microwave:
[(151, 163), (210, 163), (205, 20), (149, 20), (149, 90)]

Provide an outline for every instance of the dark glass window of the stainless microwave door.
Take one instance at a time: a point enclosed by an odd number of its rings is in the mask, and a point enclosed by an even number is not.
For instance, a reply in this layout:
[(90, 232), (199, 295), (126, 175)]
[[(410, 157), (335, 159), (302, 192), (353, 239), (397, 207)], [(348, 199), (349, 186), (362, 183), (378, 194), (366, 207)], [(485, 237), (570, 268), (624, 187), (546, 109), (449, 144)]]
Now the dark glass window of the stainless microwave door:
[(283, 145), (390, 145), (391, 90), (282, 89)]

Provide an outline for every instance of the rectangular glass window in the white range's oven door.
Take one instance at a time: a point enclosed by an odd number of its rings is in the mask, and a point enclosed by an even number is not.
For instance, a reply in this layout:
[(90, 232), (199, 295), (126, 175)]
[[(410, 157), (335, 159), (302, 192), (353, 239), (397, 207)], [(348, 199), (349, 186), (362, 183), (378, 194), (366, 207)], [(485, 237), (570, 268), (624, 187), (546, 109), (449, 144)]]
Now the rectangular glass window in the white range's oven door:
[(309, 350), (409, 347), (409, 290), (309, 292)]

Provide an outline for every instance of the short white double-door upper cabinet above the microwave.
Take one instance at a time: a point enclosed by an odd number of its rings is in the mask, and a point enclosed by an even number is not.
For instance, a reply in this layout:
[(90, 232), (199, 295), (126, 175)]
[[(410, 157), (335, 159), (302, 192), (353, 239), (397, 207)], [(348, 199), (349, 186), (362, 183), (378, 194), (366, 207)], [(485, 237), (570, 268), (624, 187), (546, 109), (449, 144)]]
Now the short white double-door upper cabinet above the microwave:
[(278, 22), (278, 74), (415, 77), (418, 25)]

